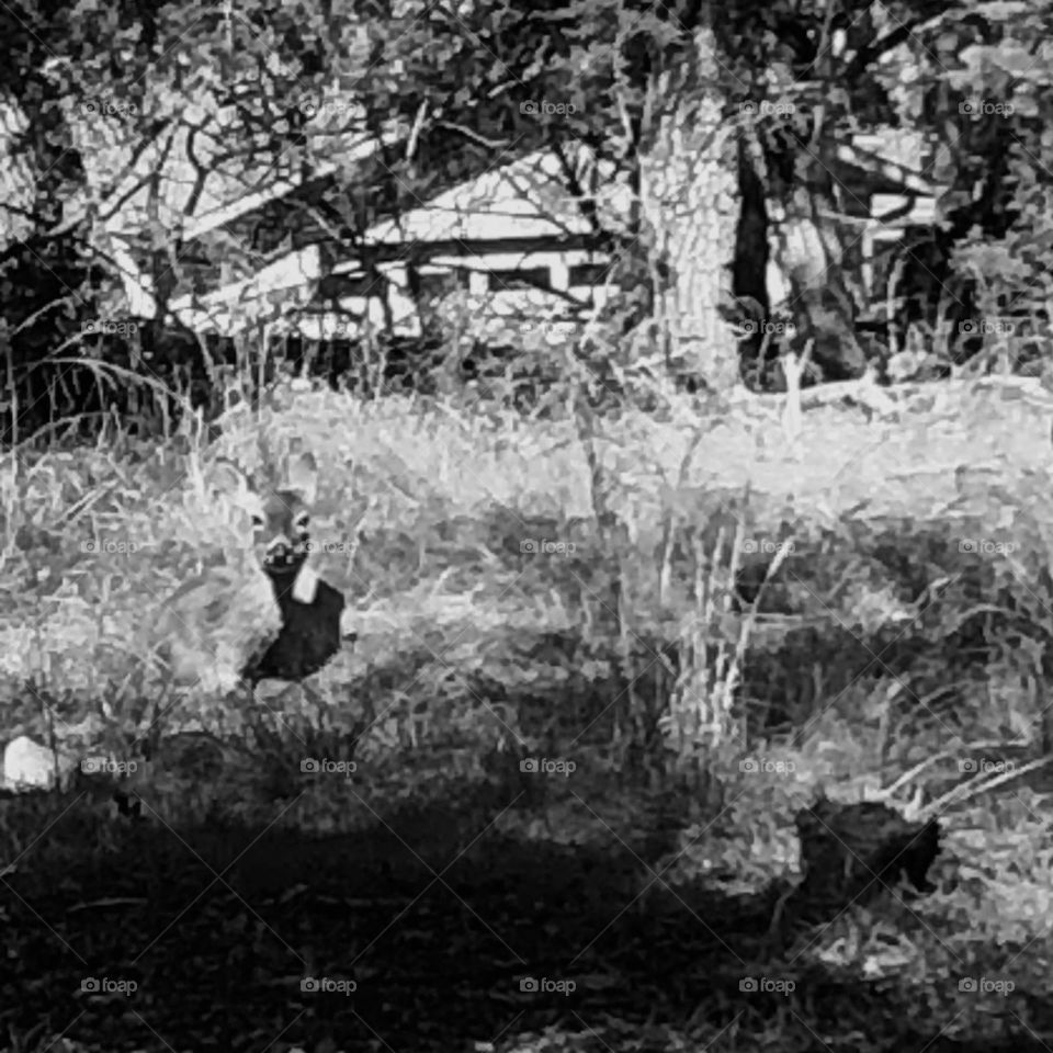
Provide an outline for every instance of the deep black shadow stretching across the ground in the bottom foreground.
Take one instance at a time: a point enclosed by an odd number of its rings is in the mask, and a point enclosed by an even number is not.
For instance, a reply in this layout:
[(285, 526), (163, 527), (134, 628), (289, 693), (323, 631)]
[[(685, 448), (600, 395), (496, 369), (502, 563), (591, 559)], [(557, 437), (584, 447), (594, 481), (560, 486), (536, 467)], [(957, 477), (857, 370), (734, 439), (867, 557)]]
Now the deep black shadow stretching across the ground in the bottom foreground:
[(3, 879), (0, 1022), (110, 1051), (501, 1049), (546, 1028), (597, 1051), (725, 1027), (781, 1027), (784, 1049), (925, 1045), (894, 995), (766, 965), (770, 895), (667, 888), (616, 843), (486, 823), (444, 838), (448, 818), (312, 839), (71, 809)]

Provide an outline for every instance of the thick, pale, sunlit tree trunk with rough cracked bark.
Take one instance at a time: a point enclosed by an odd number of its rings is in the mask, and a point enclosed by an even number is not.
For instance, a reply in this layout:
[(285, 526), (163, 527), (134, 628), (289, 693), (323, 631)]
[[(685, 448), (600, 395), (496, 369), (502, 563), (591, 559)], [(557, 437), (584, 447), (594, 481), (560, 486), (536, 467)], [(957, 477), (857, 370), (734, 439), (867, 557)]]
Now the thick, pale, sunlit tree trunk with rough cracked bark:
[(667, 361), (681, 376), (727, 390), (739, 383), (736, 333), (720, 310), (735, 256), (737, 158), (718, 72), (716, 41), (703, 24), (693, 54), (653, 78), (641, 212)]

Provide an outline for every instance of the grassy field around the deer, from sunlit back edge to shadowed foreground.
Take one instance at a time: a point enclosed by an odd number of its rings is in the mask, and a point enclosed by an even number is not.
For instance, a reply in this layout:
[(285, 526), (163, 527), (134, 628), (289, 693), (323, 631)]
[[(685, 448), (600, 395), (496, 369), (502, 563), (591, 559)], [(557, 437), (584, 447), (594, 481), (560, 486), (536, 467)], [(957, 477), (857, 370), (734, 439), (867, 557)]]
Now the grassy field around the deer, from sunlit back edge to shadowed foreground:
[[(0, 1046), (1038, 1049), (1038, 774), (941, 809), (931, 895), (773, 918), (820, 791), (1043, 755), (1048, 401), (919, 386), (789, 434), (774, 401), (294, 388), (213, 444), (9, 456), (0, 726), (110, 767), (0, 800)], [(318, 462), (312, 565), (356, 641), (249, 699), (217, 687), (246, 524), (200, 480), (260, 435)], [(213, 646), (177, 684), (195, 575)]]

